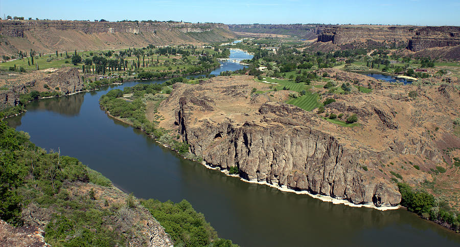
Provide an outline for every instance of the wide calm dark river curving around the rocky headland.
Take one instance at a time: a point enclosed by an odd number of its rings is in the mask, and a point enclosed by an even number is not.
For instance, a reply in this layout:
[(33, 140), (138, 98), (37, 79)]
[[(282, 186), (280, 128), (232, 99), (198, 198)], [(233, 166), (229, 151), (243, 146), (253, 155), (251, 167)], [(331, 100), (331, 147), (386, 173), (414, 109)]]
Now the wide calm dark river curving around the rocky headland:
[[(218, 70), (226, 68), (242, 65), (223, 63)], [(8, 121), (29, 132), (38, 146), (59, 148), (62, 155), (78, 158), (137, 197), (187, 199), (219, 237), (242, 246), (459, 246), (460, 235), (404, 209), (334, 205), (225, 176), (181, 159), (99, 108), (99, 98), (110, 89), (163, 81), (125, 82), (31, 102), (27, 113)]]

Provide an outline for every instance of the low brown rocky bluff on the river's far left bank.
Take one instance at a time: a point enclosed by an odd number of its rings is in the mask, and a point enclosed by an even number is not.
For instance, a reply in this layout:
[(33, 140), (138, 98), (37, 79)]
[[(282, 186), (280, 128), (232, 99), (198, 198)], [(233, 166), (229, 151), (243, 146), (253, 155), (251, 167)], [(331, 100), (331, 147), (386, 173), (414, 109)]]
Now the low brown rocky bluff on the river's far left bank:
[[(0, 108), (17, 105), (21, 94), (27, 94), (33, 90), (71, 94), (83, 89), (83, 82), (76, 68), (62, 68), (50, 74), (44, 72), (36, 72), (34, 75), (26, 74), (24, 80), (30, 81), (0, 92)], [(45, 84), (48, 85), (49, 89), (44, 88)]]

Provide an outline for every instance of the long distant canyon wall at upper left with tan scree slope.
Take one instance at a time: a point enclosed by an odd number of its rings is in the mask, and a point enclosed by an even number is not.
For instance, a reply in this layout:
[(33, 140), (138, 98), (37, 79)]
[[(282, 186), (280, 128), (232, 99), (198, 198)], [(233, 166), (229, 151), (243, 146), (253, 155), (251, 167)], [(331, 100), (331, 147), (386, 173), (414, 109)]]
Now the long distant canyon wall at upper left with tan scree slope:
[(0, 20), (0, 55), (30, 49), (40, 53), (145, 47), (148, 44), (202, 44), (234, 37), (223, 24)]

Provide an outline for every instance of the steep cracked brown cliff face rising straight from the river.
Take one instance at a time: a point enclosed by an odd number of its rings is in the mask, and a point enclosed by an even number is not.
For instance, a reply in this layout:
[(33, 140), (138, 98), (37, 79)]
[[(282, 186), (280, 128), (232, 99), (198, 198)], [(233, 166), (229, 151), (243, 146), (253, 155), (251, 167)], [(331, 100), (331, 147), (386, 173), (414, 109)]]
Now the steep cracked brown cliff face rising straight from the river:
[[(266, 103), (259, 113), (272, 119), (270, 124), (245, 122), (241, 126), (232, 119), (220, 123), (205, 119), (192, 126), (190, 113), (195, 109), (191, 100), (180, 99), (179, 132), (192, 152), (211, 166), (236, 166), (247, 180), (347, 199), (354, 204), (388, 206), (397, 205), (401, 199), (394, 189), (369, 183), (359, 171), (362, 154), (343, 146), (330, 134), (306, 126), (302, 120), (313, 116), (296, 116), (303, 111), (298, 107)], [(298, 124), (280, 125), (275, 116)]]

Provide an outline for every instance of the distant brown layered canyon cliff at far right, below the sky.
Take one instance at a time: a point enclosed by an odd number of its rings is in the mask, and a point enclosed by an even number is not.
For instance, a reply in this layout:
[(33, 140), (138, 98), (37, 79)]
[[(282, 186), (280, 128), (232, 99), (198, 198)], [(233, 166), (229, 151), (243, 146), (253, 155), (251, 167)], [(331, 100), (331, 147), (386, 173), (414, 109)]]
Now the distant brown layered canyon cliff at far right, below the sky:
[(327, 42), (335, 45), (328, 49), (393, 43), (393, 46), (405, 47), (404, 55), (460, 59), (460, 27), (327, 26), (318, 34), (316, 44)]

